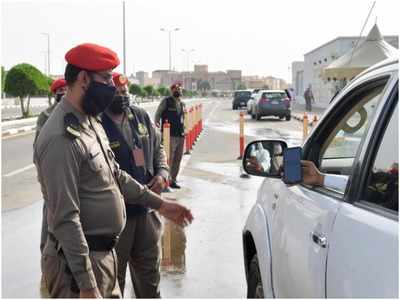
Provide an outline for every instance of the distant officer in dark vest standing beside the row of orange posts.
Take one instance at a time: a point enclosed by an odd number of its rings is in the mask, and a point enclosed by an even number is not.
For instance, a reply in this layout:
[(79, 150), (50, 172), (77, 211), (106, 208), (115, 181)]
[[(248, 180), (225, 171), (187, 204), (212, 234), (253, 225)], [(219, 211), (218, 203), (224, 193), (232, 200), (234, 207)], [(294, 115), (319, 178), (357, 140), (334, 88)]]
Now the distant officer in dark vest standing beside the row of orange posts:
[[(179, 167), (181, 165), (183, 147), (185, 144), (184, 109), (185, 104), (181, 101), (182, 85), (177, 82), (171, 86), (172, 96), (164, 98), (156, 111), (155, 123), (163, 126), (168, 120), (170, 128), (170, 167), (171, 167), (171, 188), (180, 189), (177, 183)], [(161, 124), (160, 124), (161, 120)], [(161, 127), (162, 128), (162, 127)]]

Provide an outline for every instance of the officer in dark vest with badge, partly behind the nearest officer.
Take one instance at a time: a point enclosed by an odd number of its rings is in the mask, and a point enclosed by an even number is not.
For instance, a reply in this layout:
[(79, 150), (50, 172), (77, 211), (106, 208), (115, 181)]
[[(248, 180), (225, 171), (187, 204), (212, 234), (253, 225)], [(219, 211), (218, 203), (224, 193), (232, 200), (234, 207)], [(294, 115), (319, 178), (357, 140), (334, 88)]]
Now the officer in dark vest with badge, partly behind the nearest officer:
[[(161, 135), (144, 109), (129, 106), (127, 78), (114, 73), (113, 80), (117, 93), (102, 115), (111, 149), (122, 170), (160, 194), (169, 176)], [(126, 214), (127, 223), (116, 247), (121, 291), (129, 264), (136, 298), (160, 298), (160, 219), (140, 204), (126, 203)]]

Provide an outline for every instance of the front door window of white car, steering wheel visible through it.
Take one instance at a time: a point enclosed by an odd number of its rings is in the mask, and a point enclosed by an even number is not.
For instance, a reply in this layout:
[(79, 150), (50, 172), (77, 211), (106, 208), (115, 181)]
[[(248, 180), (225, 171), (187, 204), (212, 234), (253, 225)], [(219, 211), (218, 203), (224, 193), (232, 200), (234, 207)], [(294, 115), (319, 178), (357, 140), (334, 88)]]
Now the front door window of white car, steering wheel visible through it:
[(386, 82), (367, 88), (348, 101), (353, 106), (338, 120), (321, 147), (322, 172), (339, 175), (352, 173), (354, 158), (376, 113)]

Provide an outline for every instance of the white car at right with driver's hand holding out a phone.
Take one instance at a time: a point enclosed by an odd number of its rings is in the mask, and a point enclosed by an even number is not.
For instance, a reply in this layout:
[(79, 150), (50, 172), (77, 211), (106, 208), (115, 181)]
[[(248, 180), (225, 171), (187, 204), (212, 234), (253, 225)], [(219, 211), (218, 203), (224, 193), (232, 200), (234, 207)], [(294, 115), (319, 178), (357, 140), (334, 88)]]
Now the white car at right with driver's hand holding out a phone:
[(349, 83), (304, 142), (302, 159), (326, 174), (323, 186), (249, 170), (255, 147), (246, 148), (244, 169), (270, 177), (243, 229), (249, 298), (399, 297), (398, 142), (393, 59)]

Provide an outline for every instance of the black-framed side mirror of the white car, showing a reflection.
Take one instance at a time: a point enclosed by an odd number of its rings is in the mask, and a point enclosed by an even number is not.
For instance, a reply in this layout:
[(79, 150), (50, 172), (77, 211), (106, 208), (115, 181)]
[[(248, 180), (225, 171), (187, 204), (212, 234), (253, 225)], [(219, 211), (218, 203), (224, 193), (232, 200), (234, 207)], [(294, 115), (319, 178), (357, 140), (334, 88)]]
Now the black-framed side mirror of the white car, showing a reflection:
[(283, 152), (287, 147), (282, 140), (251, 142), (243, 156), (244, 171), (254, 176), (282, 178)]

